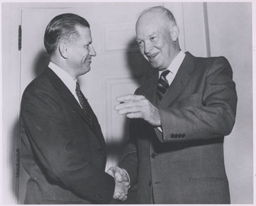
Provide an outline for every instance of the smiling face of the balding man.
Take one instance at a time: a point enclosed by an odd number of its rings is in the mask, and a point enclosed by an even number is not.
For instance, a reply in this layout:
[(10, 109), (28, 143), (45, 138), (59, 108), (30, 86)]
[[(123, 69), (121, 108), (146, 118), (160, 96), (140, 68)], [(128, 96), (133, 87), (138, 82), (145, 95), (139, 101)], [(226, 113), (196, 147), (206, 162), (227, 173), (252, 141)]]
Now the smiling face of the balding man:
[(136, 24), (140, 52), (157, 70), (168, 68), (179, 53), (179, 28), (163, 14), (143, 13)]

